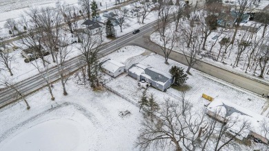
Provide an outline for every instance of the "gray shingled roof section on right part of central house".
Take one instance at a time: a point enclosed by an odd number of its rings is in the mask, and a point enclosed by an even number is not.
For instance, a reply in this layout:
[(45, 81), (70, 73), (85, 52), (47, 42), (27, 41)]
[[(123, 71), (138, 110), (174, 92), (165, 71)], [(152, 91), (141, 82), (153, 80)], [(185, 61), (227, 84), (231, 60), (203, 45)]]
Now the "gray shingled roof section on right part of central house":
[(161, 81), (163, 83), (166, 83), (169, 79), (172, 79), (172, 76), (170, 74), (161, 72), (159, 70), (156, 70), (155, 68), (146, 68), (145, 74), (151, 77), (154, 81)]

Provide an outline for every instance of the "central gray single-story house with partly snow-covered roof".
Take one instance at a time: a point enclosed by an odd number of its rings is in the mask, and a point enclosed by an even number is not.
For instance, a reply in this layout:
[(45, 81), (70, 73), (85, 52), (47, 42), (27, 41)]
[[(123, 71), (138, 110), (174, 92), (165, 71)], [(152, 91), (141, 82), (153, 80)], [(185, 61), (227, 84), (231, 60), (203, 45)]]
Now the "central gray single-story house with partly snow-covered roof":
[(168, 73), (161, 72), (152, 67), (146, 67), (141, 64), (134, 64), (128, 69), (128, 75), (139, 81), (144, 80), (147, 83), (150, 83), (154, 88), (157, 88), (162, 91), (166, 91), (174, 79)]

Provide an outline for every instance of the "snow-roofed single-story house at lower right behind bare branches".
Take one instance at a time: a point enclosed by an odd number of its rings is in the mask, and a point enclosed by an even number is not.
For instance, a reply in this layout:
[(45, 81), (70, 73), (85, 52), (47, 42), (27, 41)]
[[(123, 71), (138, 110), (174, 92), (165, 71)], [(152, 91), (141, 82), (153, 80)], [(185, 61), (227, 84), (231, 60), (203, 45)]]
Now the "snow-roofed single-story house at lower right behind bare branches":
[(215, 99), (214, 101), (212, 101), (208, 105), (207, 110), (209, 117), (212, 117), (212, 119), (215, 119), (221, 123), (228, 123), (228, 119), (237, 118), (238, 122), (235, 123), (235, 126), (232, 126), (226, 132), (228, 135), (235, 136), (235, 132), (239, 132), (239, 125), (241, 125), (243, 121), (248, 121), (250, 123), (251, 128), (248, 130), (243, 130), (242, 132), (240, 132), (241, 134), (237, 134), (235, 139), (243, 143), (249, 141), (250, 139), (259, 139), (261, 142), (268, 144), (269, 137), (266, 136), (260, 126), (261, 121), (265, 120), (266, 122), (268, 122), (268, 119), (266, 117), (263, 117), (263, 115), (248, 110), (247, 108), (243, 108), (240, 105), (232, 103), (232, 101), (221, 99)]

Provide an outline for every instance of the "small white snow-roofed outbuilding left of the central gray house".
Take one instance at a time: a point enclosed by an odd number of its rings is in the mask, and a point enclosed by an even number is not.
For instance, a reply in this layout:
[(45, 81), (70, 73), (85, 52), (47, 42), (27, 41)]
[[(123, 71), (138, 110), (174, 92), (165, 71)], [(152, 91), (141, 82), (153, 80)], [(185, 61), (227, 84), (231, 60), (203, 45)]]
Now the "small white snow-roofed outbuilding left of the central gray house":
[(101, 63), (101, 67), (103, 68), (103, 72), (110, 75), (111, 77), (117, 77), (119, 74), (124, 72), (126, 66), (123, 63), (119, 63), (117, 61), (107, 59)]

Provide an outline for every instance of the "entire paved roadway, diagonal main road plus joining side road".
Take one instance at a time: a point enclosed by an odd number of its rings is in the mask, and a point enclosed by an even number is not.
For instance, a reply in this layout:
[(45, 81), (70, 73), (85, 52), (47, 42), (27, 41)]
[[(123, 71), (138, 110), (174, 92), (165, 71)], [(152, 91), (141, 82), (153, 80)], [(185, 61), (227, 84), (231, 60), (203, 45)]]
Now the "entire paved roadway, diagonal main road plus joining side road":
[[(101, 50), (101, 54), (106, 55), (117, 48), (121, 48), (123, 46), (135, 45), (141, 46), (142, 48), (146, 48), (151, 50), (152, 52), (157, 52), (158, 54), (163, 55), (159, 46), (155, 43), (152, 43), (149, 39), (150, 34), (155, 30), (156, 22), (149, 23), (148, 25), (141, 28), (141, 32), (138, 34), (128, 33), (118, 38), (118, 42), (112, 41), (110, 43), (106, 43)], [(117, 44), (116, 44), (117, 43)], [(183, 63), (187, 65), (185, 57), (178, 52), (172, 52), (170, 54), (170, 59), (178, 61), (179, 63)], [(76, 71), (79, 69), (78, 63), (81, 61), (81, 56), (74, 57), (70, 59), (68, 63), (66, 63), (66, 67), (70, 69), (70, 71)], [(199, 61), (199, 65), (194, 66), (195, 69), (200, 70), (201, 72), (205, 72), (206, 74), (210, 74), (213, 77), (221, 79), (223, 81), (227, 81), (228, 83), (232, 83), (237, 85), (238, 87), (245, 88), (246, 90), (250, 90), (257, 94), (267, 94), (269, 92), (268, 83), (261, 83), (259, 81), (252, 81), (246, 77), (241, 77), (240, 75), (229, 72), (228, 70), (223, 70), (218, 68), (217, 66), (212, 66), (208, 63), (204, 63)], [(57, 69), (51, 68), (49, 71), (50, 79), (52, 81), (56, 81), (59, 79), (59, 74)], [(23, 92), (23, 94), (30, 94), (40, 88), (43, 88), (46, 85), (46, 82), (42, 79), (41, 74), (37, 74), (34, 77), (26, 79), (20, 83), (17, 83), (16, 86)], [(57, 98), (56, 98), (57, 99)], [(6, 88), (1, 91), (0, 94), (0, 107), (16, 100), (14, 90), (10, 88)]]

